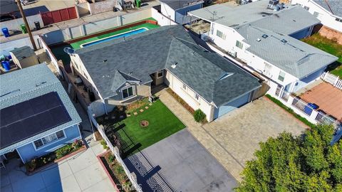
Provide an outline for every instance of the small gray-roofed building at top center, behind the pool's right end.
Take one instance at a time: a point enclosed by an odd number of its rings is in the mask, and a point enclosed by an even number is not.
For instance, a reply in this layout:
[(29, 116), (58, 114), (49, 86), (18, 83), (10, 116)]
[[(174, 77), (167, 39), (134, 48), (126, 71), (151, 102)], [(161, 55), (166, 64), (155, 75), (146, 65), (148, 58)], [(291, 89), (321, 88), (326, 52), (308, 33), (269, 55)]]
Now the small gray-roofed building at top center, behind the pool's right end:
[(160, 11), (176, 23), (190, 23), (191, 17), (187, 16), (189, 11), (202, 9), (203, 1), (198, 0), (162, 0), (160, 1)]

